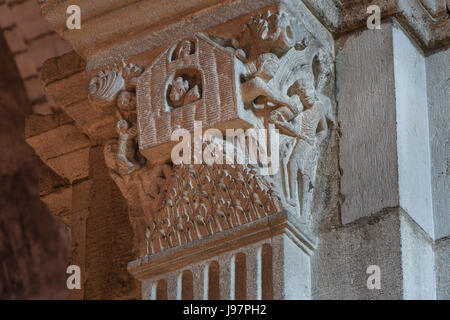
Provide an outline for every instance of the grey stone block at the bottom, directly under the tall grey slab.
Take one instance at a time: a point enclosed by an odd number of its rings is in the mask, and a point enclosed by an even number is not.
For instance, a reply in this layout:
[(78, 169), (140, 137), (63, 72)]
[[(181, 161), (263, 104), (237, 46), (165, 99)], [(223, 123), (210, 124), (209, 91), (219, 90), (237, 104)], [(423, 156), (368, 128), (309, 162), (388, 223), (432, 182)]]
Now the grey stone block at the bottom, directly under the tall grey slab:
[[(367, 288), (370, 265), (380, 267), (380, 290)], [(311, 269), (313, 299), (402, 299), (398, 209), (321, 233)]]

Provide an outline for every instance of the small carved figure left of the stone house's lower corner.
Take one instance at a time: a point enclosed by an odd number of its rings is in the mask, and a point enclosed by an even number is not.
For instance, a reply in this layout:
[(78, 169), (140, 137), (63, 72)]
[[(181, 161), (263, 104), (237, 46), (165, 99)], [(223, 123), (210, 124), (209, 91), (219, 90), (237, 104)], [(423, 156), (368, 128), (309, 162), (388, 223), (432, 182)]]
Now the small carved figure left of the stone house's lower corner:
[(128, 175), (140, 167), (135, 160), (136, 144), (134, 138), (137, 135), (137, 130), (136, 127), (130, 126), (128, 121), (121, 119), (117, 121), (117, 131), (119, 133), (119, 149), (117, 150), (119, 173)]

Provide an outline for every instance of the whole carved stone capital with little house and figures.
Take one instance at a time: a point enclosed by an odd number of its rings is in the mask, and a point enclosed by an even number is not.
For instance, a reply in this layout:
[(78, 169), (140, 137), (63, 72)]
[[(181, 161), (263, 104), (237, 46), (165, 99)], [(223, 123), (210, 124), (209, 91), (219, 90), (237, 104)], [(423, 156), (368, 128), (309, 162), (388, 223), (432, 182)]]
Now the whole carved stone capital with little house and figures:
[[(167, 44), (141, 61), (143, 68), (122, 62), (91, 80), (92, 104), (117, 111), (118, 136), (104, 154), (129, 202), (140, 256), (282, 211), (311, 229), (321, 148), (335, 123), (333, 52), (288, 8), (256, 11), (233, 28), (197, 33)], [(127, 108), (122, 95), (134, 92)], [(194, 133), (195, 122), (219, 133), (266, 132), (279, 141), (266, 150), (279, 170), (263, 175), (267, 164), (251, 163), (252, 137), (244, 147), (231, 145), (245, 163), (174, 164), (171, 135), (178, 128)], [(208, 146), (203, 142), (202, 151)]]

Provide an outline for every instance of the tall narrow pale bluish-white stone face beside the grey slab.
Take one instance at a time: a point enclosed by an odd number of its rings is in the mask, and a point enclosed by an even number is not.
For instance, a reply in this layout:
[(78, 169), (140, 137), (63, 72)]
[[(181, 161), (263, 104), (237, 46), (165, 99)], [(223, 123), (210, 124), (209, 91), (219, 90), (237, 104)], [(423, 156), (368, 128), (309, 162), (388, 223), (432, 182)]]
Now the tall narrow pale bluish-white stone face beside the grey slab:
[(434, 237), (426, 60), (396, 26), (393, 44), (400, 206)]

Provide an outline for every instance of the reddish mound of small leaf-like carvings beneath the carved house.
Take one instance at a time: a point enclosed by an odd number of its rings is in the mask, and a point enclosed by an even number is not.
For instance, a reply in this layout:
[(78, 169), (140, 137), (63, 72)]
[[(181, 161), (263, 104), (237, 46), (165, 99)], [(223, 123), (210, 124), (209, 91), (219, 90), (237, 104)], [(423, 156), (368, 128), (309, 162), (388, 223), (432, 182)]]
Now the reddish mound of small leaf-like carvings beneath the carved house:
[[(105, 158), (115, 151), (112, 146), (105, 146)], [(112, 165), (115, 183), (130, 205), (139, 207), (130, 219), (141, 256), (282, 210), (273, 186), (244, 165), (158, 164), (124, 176)]]

